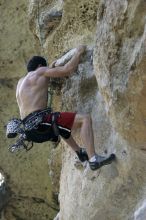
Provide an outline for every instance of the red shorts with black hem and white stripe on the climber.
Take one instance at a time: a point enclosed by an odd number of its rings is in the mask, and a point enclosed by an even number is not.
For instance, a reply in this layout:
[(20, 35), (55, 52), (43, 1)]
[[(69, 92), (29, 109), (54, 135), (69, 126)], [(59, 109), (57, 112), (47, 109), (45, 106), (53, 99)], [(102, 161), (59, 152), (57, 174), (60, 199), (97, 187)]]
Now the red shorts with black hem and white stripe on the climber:
[[(68, 139), (71, 135), (71, 129), (74, 123), (75, 116), (75, 112), (60, 112), (60, 115), (56, 120), (56, 124), (59, 128), (59, 133), (65, 139)], [(51, 123), (51, 120), (52, 114), (49, 114), (44, 117), (43, 122)]]

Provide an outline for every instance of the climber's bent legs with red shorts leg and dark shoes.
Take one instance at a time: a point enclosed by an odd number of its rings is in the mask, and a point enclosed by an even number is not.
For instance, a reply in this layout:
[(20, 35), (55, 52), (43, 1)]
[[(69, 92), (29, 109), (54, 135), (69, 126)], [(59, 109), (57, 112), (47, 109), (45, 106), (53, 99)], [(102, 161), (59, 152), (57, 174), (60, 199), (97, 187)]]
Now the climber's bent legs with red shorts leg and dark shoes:
[(63, 128), (60, 128), (59, 130), (61, 132), (60, 135), (63, 137), (65, 142), (77, 153), (80, 161), (84, 162), (89, 160), (89, 165), (92, 170), (97, 170), (104, 165), (110, 164), (115, 159), (114, 154), (111, 154), (108, 157), (102, 157), (95, 153), (92, 121), (89, 115), (61, 113), (61, 117), (58, 122), (60, 122), (59, 124), (62, 126), (67, 126), (67, 124), (68, 126), (70, 125), (69, 129), (71, 131), (76, 131), (78, 128), (81, 129), (81, 138), (83, 140), (84, 146), (86, 146), (87, 152), (83, 148), (79, 147), (79, 145), (72, 137), (71, 132), (66, 133), (65, 130), (67, 129), (64, 130)]

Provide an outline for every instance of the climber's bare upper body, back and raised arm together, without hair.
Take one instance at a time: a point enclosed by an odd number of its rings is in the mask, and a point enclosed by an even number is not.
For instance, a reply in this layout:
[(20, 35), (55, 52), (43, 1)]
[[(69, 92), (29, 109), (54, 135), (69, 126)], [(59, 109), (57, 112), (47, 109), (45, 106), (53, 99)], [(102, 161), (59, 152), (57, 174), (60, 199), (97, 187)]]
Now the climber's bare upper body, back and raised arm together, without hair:
[(79, 46), (71, 60), (64, 66), (49, 68), (38, 63), (35, 71), (29, 72), (19, 80), (16, 89), (16, 99), (21, 119), (36, 110), (42, 110), (47, 107), (49, 79), (70, 76), (77, 68), (85, 49), (86, 46)]

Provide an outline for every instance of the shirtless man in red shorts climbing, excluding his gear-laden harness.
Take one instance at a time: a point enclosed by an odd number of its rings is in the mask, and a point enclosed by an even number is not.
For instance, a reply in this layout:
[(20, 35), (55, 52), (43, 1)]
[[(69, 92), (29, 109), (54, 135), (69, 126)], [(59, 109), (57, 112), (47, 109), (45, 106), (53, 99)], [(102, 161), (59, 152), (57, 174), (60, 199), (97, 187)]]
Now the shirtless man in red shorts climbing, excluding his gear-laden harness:
[[(29, 117), (36, 112), (47, 108), (49, 79), (71, 76), (76, 70), (80, 57), (85, 52), (85, 49), (85, 46), (79, 46), (76, 53), (64, 66), (54, 68), (47, 67), (46, 60), (40, 56), (34, 56), (29, 60), (27, 64), (28, 73), (19, 80), (16, 89), (16, 98), (21, 120), (29, 119)], [(42, 124), (46, 127), (51, 126), (52, 117), (52, 112), (45, 115), (42, 123), (40, 123), (36, 129), (27, 132), (28, 136), (29, 134), (31, 137), (37, 136), (39, 126)], [(82, 115), (74, 112), (60, 112), (57, 115), (56, 124), (59, 130), (59, 135), (76, 152), (81, 162), (86, 160), (89, 161), (91, 170), (97, 170), (103, 165), (110, 164), (115, 159), (114, 154), (111, 154), (108, 157), (96, 154), (92, 121), (88, 114)], [(79, 147), (71, 135), (71, 132), (79, 127), (81, 129), (81, 139), (84, 146), (86, 146), (86, 150)], [(43, 132), (42, 135), (44, 135)], [(45, 132), (45, 135), (49, 134)]]

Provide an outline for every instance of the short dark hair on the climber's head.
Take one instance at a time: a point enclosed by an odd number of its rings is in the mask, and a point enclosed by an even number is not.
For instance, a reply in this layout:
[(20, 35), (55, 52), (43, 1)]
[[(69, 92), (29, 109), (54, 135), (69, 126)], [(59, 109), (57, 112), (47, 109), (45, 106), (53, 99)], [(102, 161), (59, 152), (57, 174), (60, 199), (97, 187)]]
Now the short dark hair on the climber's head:
[(45, 60), (45, 58), (41, 57), (41, 56), (33, 56), (27, 64), (27, 71), (34, 71), (38, 68), (38, 66), (47, 66), (47, 62)]

